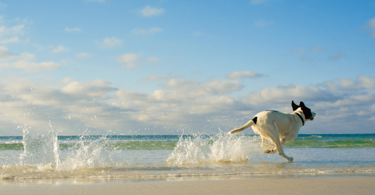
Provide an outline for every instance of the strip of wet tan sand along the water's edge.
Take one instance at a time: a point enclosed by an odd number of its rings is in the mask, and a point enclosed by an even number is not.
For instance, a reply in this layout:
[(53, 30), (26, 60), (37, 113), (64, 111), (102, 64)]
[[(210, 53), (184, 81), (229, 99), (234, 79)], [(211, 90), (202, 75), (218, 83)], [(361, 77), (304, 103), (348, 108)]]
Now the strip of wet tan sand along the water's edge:
[[(147, 180), (147, 179), (146, 179)], [(373, 195), (374, 176), (254, 177), (129, 181), (109, 179), (8, 180), (1, 195)]]

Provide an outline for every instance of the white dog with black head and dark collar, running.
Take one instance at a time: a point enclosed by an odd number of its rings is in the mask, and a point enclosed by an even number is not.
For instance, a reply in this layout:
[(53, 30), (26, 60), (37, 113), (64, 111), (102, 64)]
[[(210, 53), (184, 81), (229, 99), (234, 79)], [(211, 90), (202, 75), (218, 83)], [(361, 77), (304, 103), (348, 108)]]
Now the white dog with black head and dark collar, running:
[[(292, 101), (292, 108), (292, 114), (273, 110), (260, 112), (244, 126), (233, 129), (228, 134), (239, 133), (252, 127), (254, 133), (262, 137), (262, 148), (267, 149), (264, 151), (265, 154), (278, 152), (287, 161), (292, 161), (293, 157), (286, 156), (282, 150), (284, 143), (294, 140), (305, 122), (314, 120), (315, 117), (315, 113), (311, 112), (302, 101), (300, 105)], [(275, 144), (275, 147), (268, 145), (266, 139)]]

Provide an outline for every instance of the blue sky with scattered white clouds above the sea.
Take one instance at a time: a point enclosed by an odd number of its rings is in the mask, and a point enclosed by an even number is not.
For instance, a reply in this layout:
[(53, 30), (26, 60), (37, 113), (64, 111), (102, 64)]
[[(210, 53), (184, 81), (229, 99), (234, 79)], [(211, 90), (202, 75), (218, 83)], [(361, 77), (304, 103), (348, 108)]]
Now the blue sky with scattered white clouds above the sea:
[[(375, 0), (0, 1), (0, 136), (375, 133)], [(247, 129), (244, 134), (253, 134)]]

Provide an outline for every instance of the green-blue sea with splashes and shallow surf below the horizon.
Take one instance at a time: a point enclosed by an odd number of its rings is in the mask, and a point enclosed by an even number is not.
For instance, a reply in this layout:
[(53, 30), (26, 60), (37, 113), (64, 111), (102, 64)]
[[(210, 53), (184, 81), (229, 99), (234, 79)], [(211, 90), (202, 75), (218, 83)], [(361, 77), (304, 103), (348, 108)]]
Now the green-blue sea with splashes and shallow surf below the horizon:
[(286, 162), (258, 135), (0, 137), (0, 179), (370, 173), (375, 134), (303, 135)]

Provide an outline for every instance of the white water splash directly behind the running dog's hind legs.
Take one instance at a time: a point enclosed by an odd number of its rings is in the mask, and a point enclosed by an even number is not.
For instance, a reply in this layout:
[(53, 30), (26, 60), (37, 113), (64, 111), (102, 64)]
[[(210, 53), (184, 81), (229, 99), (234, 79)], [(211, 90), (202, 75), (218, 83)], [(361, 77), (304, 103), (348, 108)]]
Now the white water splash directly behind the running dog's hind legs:
[(216, 135), (180, 137), (167, 164), (199, 164), (206, 162), (241, 162), (262, 154), (261, 140), (254, 136)]

